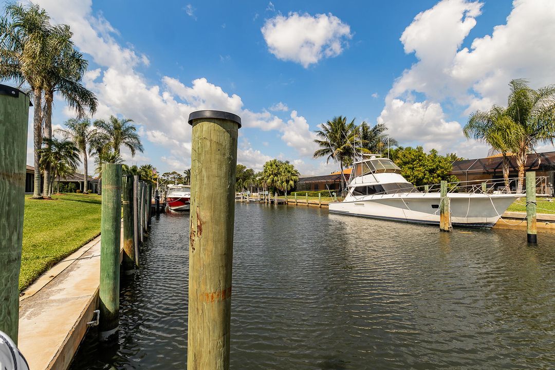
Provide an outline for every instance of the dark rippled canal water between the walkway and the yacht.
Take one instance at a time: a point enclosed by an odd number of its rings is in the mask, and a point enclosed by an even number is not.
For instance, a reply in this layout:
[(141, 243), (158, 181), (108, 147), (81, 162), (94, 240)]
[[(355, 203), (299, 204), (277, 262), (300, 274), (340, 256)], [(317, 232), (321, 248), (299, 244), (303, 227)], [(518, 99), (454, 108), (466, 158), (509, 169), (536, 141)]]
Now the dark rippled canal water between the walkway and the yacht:
[[(117, 340), (72, 369), (185, 369), (188, 214), (152, 221)], [(555, 368), (555, 242), (236, 203), (231, 368)]]

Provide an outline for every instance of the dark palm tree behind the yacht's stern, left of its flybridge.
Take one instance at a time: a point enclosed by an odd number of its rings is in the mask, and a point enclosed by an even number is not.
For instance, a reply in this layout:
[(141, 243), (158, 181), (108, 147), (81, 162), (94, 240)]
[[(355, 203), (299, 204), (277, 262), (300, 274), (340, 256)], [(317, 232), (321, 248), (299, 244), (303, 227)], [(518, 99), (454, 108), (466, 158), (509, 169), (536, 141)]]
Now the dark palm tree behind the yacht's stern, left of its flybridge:
[(357, 145), (355, 120), (347, 124), (346, 117), (336, 116), (322, 124), (321, 130), (314, 132), (317, 136), (314, 142), (320, 146), (320, 149), (314, 152), (314, 158), (327, 156), (326, 163), (329, 163), (330, 159), (335, 160), (339, 164), (343, 180), (346, 181), (343, 168), (344, 165), (352, 164)]

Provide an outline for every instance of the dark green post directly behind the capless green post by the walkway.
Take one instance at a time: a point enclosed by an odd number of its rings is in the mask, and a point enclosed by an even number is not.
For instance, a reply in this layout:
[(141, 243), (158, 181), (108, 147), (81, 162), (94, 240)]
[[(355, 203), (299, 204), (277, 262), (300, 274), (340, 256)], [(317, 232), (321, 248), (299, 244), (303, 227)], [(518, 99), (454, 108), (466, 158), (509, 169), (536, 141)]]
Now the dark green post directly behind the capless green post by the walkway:
[(123, 204), (123, 270), (135, 270), (135, 228), (133, 224), (133, 176), (125, 175), (122, 179)]

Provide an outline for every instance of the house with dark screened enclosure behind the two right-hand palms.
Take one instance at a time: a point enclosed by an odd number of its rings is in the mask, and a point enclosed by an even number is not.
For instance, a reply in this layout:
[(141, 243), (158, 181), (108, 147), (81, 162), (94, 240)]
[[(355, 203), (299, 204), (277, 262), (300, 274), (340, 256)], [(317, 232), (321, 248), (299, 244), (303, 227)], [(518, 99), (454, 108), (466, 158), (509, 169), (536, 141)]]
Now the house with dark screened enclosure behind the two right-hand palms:
[[(453, 162), (452, 175), (460, 181), (484, 181), (503, 179), (503, 156), (493, 155), (487, 158), (465, 159)], [(536, 176), (546, 176), (547, 194), (553, 195), (555, 185), (555, 151), (528, 154), (525, 171), (536, 171)], [(518, 178), (518, 167), (514, 155), (510, 156), (509, 178)], [(515, 190), (516, 184), (511, 184)]]

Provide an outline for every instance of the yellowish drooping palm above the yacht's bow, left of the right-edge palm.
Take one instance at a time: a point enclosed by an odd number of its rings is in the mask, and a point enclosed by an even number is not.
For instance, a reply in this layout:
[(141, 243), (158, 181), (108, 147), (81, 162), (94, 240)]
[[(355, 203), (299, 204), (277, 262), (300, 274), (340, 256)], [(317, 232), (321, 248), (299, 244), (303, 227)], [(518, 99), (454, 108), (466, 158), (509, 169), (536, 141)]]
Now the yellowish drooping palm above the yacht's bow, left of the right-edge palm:
[(505, 188), (509, 190), (510, 156), (517, 150), (519, 138), (523, 135), (522, 126), (512, 120), (505, 108), (493, 105), (488, 111), (472, 113), (463, 133), (467, 139), (473, 138), (490, 145), (490, 155), (501, 153), (503, 179)]

